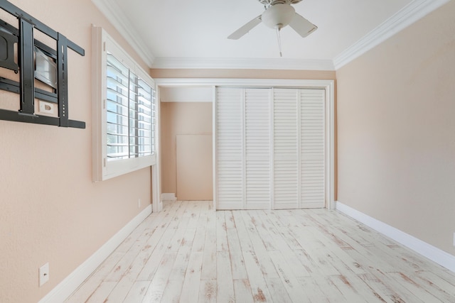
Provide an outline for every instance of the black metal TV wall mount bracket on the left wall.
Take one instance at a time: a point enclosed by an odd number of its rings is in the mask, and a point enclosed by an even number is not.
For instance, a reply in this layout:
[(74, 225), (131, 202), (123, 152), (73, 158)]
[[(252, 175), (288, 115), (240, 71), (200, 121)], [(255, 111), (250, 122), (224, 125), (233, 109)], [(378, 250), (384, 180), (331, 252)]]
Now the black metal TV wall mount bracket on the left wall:
[[(1, 109), (0, 99), (0, 120), (85, 128), (85, 122), (68, 119), (68, 48), (82, 56), (85, 50), (9, 1), (0, 0), (0, 9), (18, 19), (18, 28), (0, 19), (0, 67), (19, 73), (19, 82), (0, 77), (0, 89), (20, 95), (18, 111)], [(36, 30), (55, 40), (56, 48), (36, 40)], [(48, 89), (35, 87), (35, 79)], [(35, 99), (57, 104), (58, 116), (36, 114)]]

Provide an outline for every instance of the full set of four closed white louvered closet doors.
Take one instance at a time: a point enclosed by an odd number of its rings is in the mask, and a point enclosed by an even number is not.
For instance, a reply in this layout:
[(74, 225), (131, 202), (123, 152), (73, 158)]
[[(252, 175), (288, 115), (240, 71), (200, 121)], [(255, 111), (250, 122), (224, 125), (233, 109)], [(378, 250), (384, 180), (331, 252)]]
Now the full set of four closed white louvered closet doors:
[(325, 90), (215, 89), (217, 209), (326, 206)]

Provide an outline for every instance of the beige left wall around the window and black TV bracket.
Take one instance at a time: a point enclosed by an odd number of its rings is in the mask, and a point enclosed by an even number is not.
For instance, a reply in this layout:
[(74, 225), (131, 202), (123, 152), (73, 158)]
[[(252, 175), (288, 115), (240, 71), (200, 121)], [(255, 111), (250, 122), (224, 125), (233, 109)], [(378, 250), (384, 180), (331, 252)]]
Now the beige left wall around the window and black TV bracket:
[[(92, 182), (92, 23), (146, 66), (90, 0), (12, 3), (86, 52), (68, 50), (69, 116), (86, 129), (0, 121), (0, 302), (38, 302), (151, 201), (149, 169)], [(46, 262), (50, 280), (38, 287)]]

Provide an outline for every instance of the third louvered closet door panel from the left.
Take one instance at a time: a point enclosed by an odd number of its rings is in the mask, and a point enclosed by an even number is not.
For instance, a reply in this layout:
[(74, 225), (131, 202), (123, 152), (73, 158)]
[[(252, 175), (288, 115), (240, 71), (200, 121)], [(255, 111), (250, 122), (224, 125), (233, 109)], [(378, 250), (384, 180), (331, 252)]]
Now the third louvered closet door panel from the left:
[(274, 209), (299, 207), (298, 106), (296, 89), (273, 90)]

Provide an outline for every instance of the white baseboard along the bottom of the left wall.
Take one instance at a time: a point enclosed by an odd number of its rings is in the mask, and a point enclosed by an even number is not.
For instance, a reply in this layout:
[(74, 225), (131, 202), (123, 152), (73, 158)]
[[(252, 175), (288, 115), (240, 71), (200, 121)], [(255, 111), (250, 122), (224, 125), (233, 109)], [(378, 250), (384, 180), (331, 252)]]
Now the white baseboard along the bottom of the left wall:
[(84, 263), (79, 265), (73, 272), (65, 277), (53, 290), (43, 297), (38, 303), (61, 303), (72, 294), (82, 282), (94, 272), (101, 263), (129, 236), (134, 228), (137, 228), (147, 216), (151, 214), (151, 204), (129, 221), (112, 238), (109, 239), (100, 249), (90, 256)]

